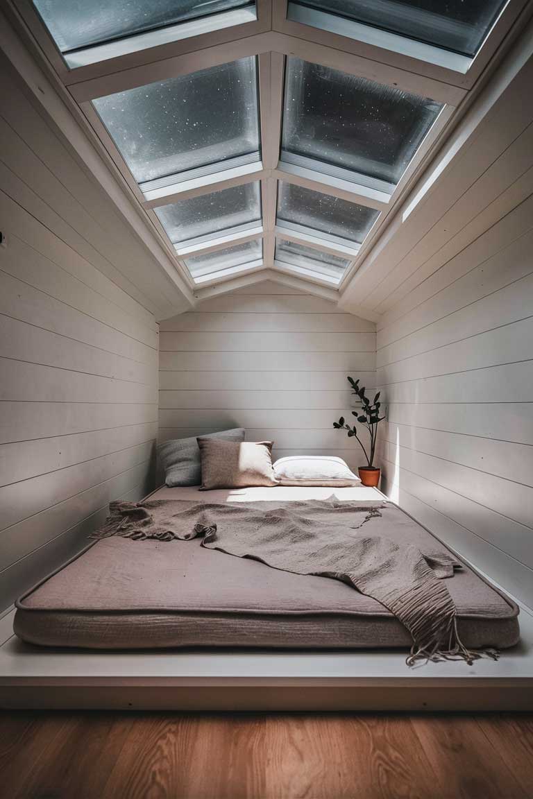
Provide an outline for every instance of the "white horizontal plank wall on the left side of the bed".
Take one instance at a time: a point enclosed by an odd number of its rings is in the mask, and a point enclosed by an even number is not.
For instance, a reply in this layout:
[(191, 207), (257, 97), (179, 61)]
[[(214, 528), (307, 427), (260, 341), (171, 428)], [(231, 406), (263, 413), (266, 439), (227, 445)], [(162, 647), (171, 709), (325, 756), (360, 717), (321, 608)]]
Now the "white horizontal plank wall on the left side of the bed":
[(159, 332), (76, 233), (81, 205), (26, 184), (26, 142), (1, 119), (0, 141), (2, 609), (86, 546), (110, 500), (153, 487)]

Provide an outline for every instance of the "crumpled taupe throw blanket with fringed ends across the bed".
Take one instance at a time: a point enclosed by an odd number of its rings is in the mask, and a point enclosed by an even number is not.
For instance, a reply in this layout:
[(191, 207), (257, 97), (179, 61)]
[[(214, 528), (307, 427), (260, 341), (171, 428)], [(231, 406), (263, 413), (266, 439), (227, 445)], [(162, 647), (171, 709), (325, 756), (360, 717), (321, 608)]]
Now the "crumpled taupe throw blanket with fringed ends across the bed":
[[(391, 509), (392, 511), (392, 509)], [(116, 502), (94, 538), (202, 538), (202, 546), (275, 569), (342, 580), (388, 608), (412, 634), (407, 662), (463, 659), (494, 650), (466, 650), (459, 640), (455, 603), (443, 578), (457, 562), (447, 551), (420, 552), (388, 537), (388, 507), (311, 500), (276, 503)]]

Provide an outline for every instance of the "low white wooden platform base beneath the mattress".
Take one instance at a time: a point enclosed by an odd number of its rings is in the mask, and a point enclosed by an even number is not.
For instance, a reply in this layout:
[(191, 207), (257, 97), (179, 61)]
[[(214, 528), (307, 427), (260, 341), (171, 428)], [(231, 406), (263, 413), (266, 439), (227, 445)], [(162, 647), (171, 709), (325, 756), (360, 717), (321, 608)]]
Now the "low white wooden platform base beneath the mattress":
[(20, 641), (9, 610), (0, 618), (0, 708), (531, 711), (533, 611), (518, 604), (521, 642), (499, 662), (415, 669), (399, 650), (49, 650)]

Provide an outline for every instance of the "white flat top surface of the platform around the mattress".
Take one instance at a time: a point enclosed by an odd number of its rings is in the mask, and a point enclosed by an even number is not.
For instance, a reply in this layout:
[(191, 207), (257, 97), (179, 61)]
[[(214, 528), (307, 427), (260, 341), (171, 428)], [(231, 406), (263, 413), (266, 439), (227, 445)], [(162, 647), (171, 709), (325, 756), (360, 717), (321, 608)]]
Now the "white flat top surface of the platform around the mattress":
[[(504, 650), (498, 662), (489, 658), (464, 662), (429, 663), (410, 669), (402, 650), (359, 650), (294, 652), (220, 650), (95, 652), (88, 650), (42, 649), (20, 641), (12, 630), (14, 611), (2, 619), (0, 686), (30, 682), (44, 684), (50, 679), (62, 684), (80, 681), (90, 684), (176, 686), (198, 685), (397, 685), (465, 680), (499, 682), (526, 680), (533, 686), (533, 617), (520, 614), (521, 642)], [(3, 628), (3, 629), (2, 629)], [(3, 636), (2, 636), (3, 637)]]

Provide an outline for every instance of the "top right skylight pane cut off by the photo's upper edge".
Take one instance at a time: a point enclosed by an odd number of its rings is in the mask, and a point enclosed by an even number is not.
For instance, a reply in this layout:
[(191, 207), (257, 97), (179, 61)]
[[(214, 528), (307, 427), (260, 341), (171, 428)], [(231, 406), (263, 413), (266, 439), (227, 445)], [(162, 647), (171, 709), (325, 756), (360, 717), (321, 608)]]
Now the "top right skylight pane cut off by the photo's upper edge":
[(315, 0), (298, 6), (388, 30), (473, 57), (505, 6), (503, 0)]

